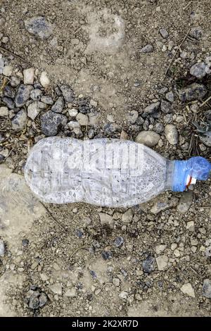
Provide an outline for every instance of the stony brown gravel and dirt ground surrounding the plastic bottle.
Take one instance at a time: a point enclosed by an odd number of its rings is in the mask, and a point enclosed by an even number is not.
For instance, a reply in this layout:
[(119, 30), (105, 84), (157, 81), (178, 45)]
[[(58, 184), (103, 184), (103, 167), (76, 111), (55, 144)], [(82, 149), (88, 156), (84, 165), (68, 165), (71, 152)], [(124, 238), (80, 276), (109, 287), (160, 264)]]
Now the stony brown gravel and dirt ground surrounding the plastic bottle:
[(210, 0), (60, 2), (1, 1), (0, 316), (210, 316), (210, 180), (129, 209), (23, 180), (56, 135), (210, 159)]

